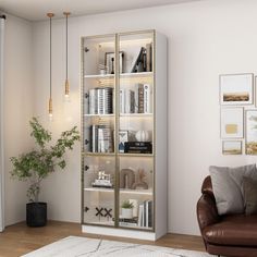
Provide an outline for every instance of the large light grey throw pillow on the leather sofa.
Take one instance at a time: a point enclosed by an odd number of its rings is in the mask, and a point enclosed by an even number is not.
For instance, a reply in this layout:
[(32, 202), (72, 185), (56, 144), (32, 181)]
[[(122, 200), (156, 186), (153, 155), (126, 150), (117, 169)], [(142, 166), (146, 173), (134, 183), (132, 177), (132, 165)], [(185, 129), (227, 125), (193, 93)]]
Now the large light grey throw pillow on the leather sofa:
[(243, 178), (257, 180), (256, 164), (236, 168), (211, 166), (209, 171), (218, 213), (243, 213)]

